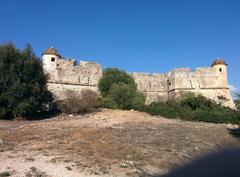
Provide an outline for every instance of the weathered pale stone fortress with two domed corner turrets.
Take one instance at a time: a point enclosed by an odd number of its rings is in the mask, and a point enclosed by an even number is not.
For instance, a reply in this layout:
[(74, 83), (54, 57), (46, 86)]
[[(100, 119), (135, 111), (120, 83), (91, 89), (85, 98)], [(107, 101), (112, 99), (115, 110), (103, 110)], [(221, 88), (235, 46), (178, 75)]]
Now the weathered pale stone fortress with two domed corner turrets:
[[(98, 81), (102, 68), (94, 62), (62, 58), (51, 47), (42, 55), (44, 71), (49, 75), (48, 88), (58, 98), (63, 98), (64, 90), (84, 89), (98, 91)], [(168, 73), (130, 73), (140, 91), (146, 94), (146, 104), (153, 101), (175, 99), (184, 91), (201, 94), (224, 106), (235, 108), (227, 81), (227, 64), (215, 60), (211, 67), (178, 68)]]

